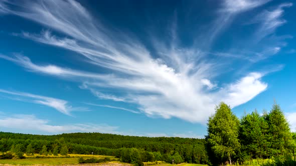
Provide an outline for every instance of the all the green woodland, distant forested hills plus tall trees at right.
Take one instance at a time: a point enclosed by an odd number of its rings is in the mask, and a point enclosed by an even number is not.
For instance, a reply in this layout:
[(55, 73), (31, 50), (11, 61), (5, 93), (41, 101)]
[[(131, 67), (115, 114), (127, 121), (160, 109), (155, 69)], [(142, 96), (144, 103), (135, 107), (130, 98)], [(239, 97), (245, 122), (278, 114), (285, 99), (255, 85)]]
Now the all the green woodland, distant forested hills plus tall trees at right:
[(259, 113), (254, 110), (238, 118), (229, 105), (221, 102), (209, 117), (207, 130), (204, 139), (95, 132), (57, 135), (0, 132), (0, 151), (3, 157), (11, 152), (19, 158), (25, 157), (24, 153), (27, 156), (34, 153), (98, 154), (115, 156), (122, 162), (135, 164), (147, 161), (171, 163), (172, 159), (174, 163), (208, 165), (246, 164), (253, 159), (296, 163), (296, 133), (291, 132), (284, 113), (276, 103), (270, 111)]

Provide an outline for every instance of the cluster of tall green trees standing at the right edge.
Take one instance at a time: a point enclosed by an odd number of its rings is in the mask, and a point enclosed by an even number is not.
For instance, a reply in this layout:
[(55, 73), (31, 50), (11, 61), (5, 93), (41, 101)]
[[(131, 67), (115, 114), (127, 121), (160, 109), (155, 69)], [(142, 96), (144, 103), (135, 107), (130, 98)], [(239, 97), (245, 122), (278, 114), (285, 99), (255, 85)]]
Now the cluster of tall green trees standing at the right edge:
[(213, 165), (254, 158), (281, 157), (295, 160), (296, 134), (290, 131), (280, 106), (269, 112), (257, 110), (240, 119), (221, 102), (208, 120), (206, 148)]

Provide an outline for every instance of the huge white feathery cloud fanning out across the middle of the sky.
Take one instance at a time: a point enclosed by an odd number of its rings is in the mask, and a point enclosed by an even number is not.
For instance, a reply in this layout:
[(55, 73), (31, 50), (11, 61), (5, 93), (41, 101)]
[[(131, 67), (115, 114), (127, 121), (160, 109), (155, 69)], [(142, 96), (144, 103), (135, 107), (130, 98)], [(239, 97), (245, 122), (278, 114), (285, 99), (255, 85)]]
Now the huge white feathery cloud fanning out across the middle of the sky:
[[(245, 11), (263, 2), (266, 1), (256, 3), (248, 0), (233, 7)], [(228, 3), (227, 12), (237, 13)], [(11, 9), (10, 5), (17, 5), (18, 8)], [(202, 58), (202, 52), (195, 47), (153, 44), (155, 50), (161, 52), (160, 57), (155, 58), (141, 42), (123, 32), (117, 33), (114, 40), (112, 34), (78, 2), (41, 0), (30, 3), (25, 1), (22, 5), (6, 2), (5, 7), (11, 14), (39, 22), (65, 36), (58, 37), (50, 31), (41, 34), (24, 32), (19, 35), (75, 51), (83, 55), (88, 65), (108, 68), (112, 70), (112, 75), (104, 75), (99, 70), (94, 73), (55, 64), (41, 65), (20, 55), (0, 55), (1, 58), (22, 65), (29, 71), (69, 79), (83, 78), (80, 79), (81, 87), (89, 89), (97, 97), (136, 103), (139, 110), (148, 116), (178, 117), (205, 123), (220, 100), (234, 107), (249, 101), (267, 88), (267, 83), (261, 80), (264, 74), (260, 72), (245, 73), (235, 82), (219, 85), (215, 80), (219, 74), (219, 64)], [(224, 24), (224, 20), (221, 21)], [(158, 43), (163, 42), (159, 40)], [(97, 87), (121, 89), (125, 94), (106, 94)]]

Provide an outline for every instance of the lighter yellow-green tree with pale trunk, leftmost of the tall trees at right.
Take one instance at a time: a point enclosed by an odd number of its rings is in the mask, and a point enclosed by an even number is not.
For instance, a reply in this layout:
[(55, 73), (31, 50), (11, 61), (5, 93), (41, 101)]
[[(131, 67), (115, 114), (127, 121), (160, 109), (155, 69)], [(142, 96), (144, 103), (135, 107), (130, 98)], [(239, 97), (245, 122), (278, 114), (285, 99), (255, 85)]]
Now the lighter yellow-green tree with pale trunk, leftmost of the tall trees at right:
[(215, 114), (209, 117), (208, 120), (208, 135), (206, 140), (208, 150), (215, 155), (220, 162), (229, 160), (232, 163), (231, 157), (235, 156), (240, 149), (238, 139), (239, 120), (232, 113), (229, 105), (221, 102), (215, 108)]

